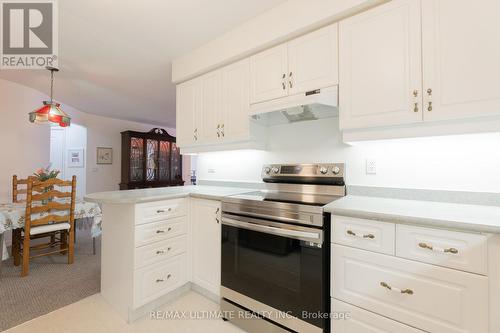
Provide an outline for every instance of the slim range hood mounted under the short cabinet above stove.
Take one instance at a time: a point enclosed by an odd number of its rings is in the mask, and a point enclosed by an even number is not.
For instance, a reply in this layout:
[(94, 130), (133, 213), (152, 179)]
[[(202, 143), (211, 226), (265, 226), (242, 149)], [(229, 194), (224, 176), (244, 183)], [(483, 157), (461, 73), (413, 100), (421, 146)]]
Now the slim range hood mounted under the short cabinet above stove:
[(328, 87), (250, 106), (250, 117), (273, 126), (338, 116), (338, 87)]

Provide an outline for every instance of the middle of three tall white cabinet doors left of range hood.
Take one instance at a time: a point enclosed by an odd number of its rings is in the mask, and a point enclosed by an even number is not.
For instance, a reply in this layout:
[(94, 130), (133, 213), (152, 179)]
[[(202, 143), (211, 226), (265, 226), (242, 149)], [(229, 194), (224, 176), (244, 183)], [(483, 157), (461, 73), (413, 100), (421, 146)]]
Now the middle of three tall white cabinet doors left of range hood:
[(200, 143), (213, 143), (220, 138), (221, 72), (213, 71), (201, 78)]

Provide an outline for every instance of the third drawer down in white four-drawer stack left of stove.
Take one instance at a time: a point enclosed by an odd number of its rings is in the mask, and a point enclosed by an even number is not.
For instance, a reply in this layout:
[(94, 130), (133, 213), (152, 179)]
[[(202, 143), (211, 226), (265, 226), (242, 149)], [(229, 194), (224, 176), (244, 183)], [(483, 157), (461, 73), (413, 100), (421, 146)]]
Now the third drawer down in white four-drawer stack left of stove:
[(186, 252), (187, 236), (179, 236), (135, 249), (135, 268), (145, 267)]

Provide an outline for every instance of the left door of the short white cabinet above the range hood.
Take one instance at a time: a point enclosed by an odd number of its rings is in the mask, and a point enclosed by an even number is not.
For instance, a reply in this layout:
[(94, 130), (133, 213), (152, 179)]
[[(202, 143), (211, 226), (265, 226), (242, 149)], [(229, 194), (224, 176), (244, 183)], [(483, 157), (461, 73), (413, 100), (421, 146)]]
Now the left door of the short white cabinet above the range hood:
[(286, 96), (288, 85), (287, 44), (266, 50), (250, 58), (250, 103)]

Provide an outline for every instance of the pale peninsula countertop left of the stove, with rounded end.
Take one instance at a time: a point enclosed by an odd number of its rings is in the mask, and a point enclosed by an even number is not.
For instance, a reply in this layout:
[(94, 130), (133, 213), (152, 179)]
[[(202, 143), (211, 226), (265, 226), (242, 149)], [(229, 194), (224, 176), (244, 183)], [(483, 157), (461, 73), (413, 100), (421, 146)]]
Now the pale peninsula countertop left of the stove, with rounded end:
[(187, 196), (218, 200), (229, 195), (252, 191), (255, 190), (251, 188), (188, 185), (127, 191), (98, 192), (88, 194), (85, 196), (85, 200), (106, 204), (131, 204), (168, 200)]

